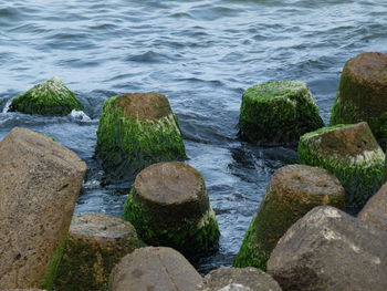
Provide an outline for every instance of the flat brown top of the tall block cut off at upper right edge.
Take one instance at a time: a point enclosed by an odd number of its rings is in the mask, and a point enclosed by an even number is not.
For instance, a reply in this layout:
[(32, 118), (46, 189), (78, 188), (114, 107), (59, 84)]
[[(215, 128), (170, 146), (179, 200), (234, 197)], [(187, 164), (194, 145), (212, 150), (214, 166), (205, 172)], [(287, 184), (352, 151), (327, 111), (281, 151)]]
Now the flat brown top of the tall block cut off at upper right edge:
[(351, 59), (346, 64), (354, 76), (370, 83), (387, 86), (387, 54), (366, 52)]

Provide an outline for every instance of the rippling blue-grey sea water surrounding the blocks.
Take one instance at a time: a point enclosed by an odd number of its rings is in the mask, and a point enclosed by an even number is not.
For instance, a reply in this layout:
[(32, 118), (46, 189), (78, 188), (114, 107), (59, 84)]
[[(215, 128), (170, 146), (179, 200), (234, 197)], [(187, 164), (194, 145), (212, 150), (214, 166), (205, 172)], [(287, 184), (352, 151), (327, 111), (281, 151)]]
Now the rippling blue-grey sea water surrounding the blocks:
[[(228, 266), (286, 148), (236, 137), (241, 93), (269, 80), (311, 87), (326, 122), (344, 62), (386, 52), (385, 0), (12, 0), (0, 2), (0, 139), (23, 126), (75, 150), (90, 170), (76, 211), (119, 216), (129, 185), (102, 187), (93, 159), (103, 102), (164, 93), (177, 114), (188, 163), (206, 178), (222, 232), (200, 270)], [(7, 113), (10, 98), (62, 79), (87, 118)]]

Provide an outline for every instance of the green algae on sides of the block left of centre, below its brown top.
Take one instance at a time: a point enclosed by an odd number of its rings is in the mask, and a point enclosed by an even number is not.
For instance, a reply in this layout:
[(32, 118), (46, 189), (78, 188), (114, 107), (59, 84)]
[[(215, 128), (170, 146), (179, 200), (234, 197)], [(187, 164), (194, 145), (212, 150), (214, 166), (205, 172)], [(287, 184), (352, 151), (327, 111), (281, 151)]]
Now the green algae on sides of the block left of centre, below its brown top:
[(124, 116), (117, 97), (105, 102), (97, 129), (96, 156), (111, 177), (132, 178), (148, 165), (186, 158), (174, 113), (157, 121), (139, 121)]

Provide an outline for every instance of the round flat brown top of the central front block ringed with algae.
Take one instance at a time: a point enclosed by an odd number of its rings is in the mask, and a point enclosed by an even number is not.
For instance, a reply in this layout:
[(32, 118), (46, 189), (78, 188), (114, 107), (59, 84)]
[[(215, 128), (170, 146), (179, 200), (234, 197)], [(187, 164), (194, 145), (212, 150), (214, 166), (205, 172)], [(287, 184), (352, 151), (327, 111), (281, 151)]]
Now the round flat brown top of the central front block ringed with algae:
[(158, 163), (143, 169), (135, 180), (136, 194), (158, 204), (197, 200), (205, 191), (201, 174), (181, 162)]

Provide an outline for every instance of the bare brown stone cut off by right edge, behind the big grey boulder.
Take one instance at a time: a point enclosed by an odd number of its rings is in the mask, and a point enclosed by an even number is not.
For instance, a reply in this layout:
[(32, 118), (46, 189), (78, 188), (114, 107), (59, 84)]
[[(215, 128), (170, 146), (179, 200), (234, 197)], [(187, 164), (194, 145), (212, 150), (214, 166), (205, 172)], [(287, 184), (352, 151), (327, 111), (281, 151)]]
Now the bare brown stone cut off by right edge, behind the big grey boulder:
[(368, 200), (358, 218), (377, 228), (387, 230), (387, 184)]

